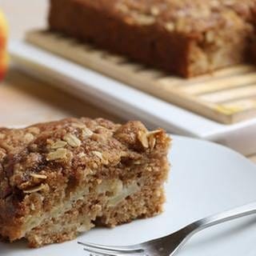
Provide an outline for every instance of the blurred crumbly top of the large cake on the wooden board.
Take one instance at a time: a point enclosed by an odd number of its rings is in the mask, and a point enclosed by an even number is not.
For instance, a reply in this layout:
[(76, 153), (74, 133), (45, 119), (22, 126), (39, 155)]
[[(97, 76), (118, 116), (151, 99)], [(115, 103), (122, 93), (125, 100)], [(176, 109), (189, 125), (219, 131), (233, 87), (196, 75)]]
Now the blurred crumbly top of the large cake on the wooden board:
[(240, 26), (252, 19), (254, 0), (118, 0), (90, 2), (134, 26), (157, 25), (190, 34), (216, 26)]

